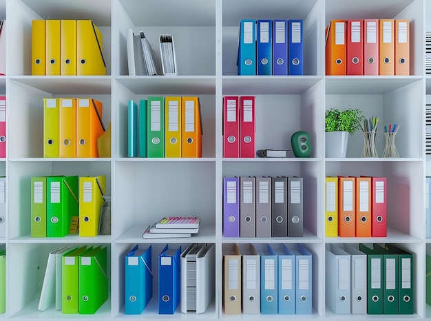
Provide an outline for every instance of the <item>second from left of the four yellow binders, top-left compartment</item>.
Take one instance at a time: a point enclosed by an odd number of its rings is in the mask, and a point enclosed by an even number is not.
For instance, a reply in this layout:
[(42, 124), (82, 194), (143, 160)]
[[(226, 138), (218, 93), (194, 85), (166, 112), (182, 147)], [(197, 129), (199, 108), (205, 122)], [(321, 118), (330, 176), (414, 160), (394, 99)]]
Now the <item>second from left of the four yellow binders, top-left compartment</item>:
[(60, 76), (61, 50), (60, 20), (46, 21), (46, 75)]

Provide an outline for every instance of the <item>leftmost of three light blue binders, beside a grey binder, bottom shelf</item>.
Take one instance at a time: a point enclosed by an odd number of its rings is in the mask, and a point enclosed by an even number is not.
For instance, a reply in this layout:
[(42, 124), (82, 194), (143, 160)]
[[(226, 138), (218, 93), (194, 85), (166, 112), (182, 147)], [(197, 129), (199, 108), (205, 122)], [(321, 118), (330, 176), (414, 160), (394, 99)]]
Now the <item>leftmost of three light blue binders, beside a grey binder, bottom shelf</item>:
[(256, 245), (260, 255), (260, 313), (277, 314), (277, 254), (270, 245)]

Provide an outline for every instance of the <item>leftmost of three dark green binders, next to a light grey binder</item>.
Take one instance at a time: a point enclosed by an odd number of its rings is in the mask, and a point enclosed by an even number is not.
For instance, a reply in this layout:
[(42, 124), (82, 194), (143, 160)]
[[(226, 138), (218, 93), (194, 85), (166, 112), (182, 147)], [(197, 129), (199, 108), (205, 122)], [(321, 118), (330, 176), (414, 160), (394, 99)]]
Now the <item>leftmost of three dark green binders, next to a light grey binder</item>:
[(364, 244), (359, 250), (367, 255), (367, 313), (383, 314), (383, 254)]

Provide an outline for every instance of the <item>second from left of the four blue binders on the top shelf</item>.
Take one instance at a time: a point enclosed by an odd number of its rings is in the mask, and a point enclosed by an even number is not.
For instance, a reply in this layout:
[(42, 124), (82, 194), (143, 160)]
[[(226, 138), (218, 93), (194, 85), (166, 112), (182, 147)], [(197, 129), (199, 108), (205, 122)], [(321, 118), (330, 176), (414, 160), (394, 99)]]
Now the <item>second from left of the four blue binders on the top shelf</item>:
[(272, 29), (273, 23), (271, 20), (257, 20), (257, 75), (271, 76), (272, 74)]

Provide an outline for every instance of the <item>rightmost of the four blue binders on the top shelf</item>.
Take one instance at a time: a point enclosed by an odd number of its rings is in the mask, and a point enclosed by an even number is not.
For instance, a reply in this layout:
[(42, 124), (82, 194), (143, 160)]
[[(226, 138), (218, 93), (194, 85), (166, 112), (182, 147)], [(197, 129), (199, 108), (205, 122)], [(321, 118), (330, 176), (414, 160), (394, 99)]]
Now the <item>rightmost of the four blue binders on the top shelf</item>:
[(288, 21), (288, 74), (304, 74), (304, 49), (302, 20)]

